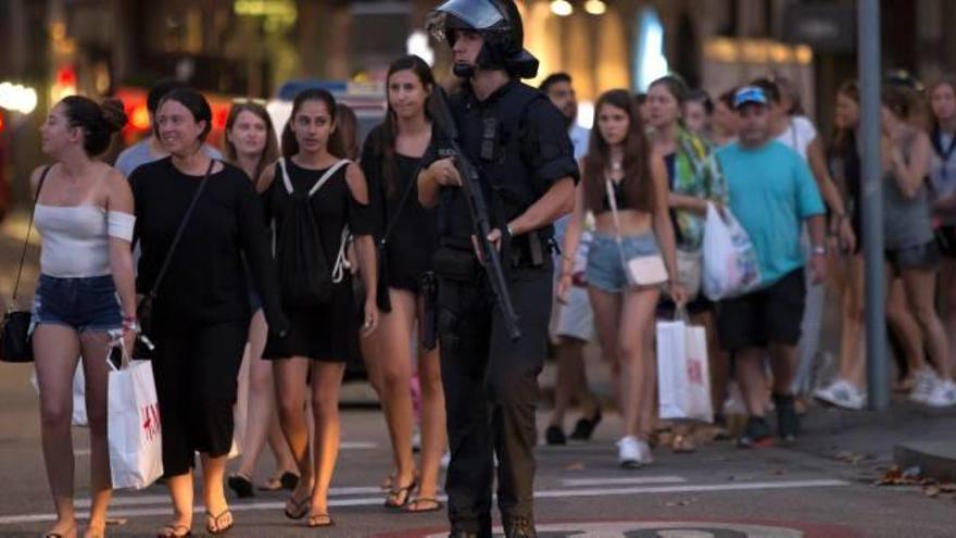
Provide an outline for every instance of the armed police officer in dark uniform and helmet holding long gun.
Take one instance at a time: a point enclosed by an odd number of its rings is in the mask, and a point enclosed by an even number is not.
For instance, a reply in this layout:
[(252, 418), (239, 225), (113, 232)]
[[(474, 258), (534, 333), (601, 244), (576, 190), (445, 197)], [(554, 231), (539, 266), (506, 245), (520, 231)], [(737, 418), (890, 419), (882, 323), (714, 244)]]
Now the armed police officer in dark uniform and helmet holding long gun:
[[(438, 205), (440, 215), (433, 265), (451, 536), (491, 536), (496, 454), (505, 536), (533, 537), (534, 404), (553, 292), (549, 247), (552, 223), (574, 207), (578, 166), (561, 112), (520, 83), (536, 75), (538, 60), (523, 48), (513, 0), (449, 0), (428, 26), (450, 43), (463, 79), (450, 99), (451, 125), (436, 118), (451, 145), (439, 140), (437, 160), (418, 176), (422, 204)], [(476, 237), (480, 199), (491, 224), (485, 242)]]

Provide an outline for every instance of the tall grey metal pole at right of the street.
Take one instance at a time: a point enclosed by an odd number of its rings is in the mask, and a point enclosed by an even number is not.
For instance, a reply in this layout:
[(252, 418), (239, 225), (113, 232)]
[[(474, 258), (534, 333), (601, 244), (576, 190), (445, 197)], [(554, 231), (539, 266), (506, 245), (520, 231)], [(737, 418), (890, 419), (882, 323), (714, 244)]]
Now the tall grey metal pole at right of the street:
[(883, 275), (883, 188), (880, 163), (880, 2), (857, 2), (863, 148), (863, 239), (866, 257), (866, 350), (869, 408), (890, 404), (886, 373), (886, 302)]

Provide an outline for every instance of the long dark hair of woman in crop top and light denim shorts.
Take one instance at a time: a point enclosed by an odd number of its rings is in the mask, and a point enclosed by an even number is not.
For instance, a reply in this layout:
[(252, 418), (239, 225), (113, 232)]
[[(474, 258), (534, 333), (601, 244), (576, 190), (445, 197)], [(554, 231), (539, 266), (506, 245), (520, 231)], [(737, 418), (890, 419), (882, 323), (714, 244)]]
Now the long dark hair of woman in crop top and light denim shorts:
[[(654, 182), (651, 178), (651, 145), (644, 136), (644, 124), (641, 122), (641, 112), (637, 101), (628, 90), (615, 89), (604, 92), (594, 107), (595, 112), (601, 114), (601, 109), (611, 105), (627, 112), (630, 118), (628, 135), (624, 140), (624, 178), (621, 187), (625, 200), (618, 200), (620, 205), (627, 205), (641, 211), (654, 211)], [(611, 147), (598, 125), (591, 129), (591, 142), (588, 154), (584, 155), (584, 201), (586, 205), (594, 213), (604, 211), (604, 174), (611, 163)]]

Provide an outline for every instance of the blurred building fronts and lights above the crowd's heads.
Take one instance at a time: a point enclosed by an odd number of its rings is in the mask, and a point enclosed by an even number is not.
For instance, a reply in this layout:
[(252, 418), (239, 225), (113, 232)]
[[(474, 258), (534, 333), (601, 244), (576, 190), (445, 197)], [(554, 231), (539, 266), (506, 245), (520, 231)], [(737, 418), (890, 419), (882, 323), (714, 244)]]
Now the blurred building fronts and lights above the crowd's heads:
[[(177, 76), (210, 95), (268, 98), (289, 79), (380, 78), (410, 46), (435, 54), (441, 78), (450, 71), (446, 47), (422, 33), (437, 3), (3, 0), (0, 84), (35, 89), (38, 103), (29, 114), (0, 104), (2, 184), (11, 175), (22, 183), (40, 162), (36, 128), (51, 103), (75, 91), (141, 100), (151, 82)], [(836, 86), (856, 71), (854, 0), (557, 3), (519, 0), (526, 45), (541, 60), (540, 77), (570, 73), (584, 101), (615, 87), (641, 91), (667, 72), (715, 95), (776, 73), (797, 83), (805, 108), (826, 127)], [(924, 78), (956, 72), (956, 33), (948, 32), (956, 2), (883, 0), (882, 9), (888, 68)], [(134, 120), (143, 126), (141, 113)], [(0, 190), (0, 205), (5, 199)]]

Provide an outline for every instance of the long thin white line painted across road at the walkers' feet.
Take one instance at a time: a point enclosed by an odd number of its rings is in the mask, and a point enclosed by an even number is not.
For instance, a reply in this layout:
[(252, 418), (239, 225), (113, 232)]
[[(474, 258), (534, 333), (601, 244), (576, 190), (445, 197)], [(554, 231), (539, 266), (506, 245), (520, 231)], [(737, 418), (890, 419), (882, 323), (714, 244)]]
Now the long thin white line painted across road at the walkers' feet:
[[(802, 488), (829, 488), (848, 486), (850, 483), (843, 480), (819, 479), (819, 480), (785, 480), (785, 481), (754, 481), (754, 483), (735, 483), (735, 484), (679, 484), (668, 486), (645, 486), (633, 488), (594, 488), (594, 489), (553, 489), (536, 491), (538, 499), (563, 499), (569, 497), (603, 497), (603, 496), (629, 496), (629, 495), (647, 495), (647, 493), (684, 493), (684, 492), (714, 492), (714, 491), (746, 491), (746, 490), (766, 490), (766, 489), (802, 489)], [(342, 488), (348, 490), (368, 491), (373, 488)], [(377, 490), (377, 488), (375, 488)], [(340, 493), (341, 495), (341, 493)], [(439, 500), (446, 500), (444, 496)], [(163, 498), (163, 502), (167, 502)], [(329, 500), (329, 506), (378, 506), (382, 503), (381, 497), (360, 497), (354, 499), (332, 499)], [(79, 505), (79, 503), (77, 503)], [(114, 505), (118, 505), (115, 504)], [(280, 511), (285, 508), (285, 502), (253, 502), (253, 503), (235, 503), (229, 506), (232, 512), (248, 512), (256, 510), (276, 510)], [(202, 513), (202, 505), (196, 506), (197, 513)], [(172, 509), (168, 505), (159, 508), (135, 508), (128, 510), (111, 510), (110, 517), (142, 517), (154, 515), (169, 515)], [(77, 517), (87, 518), (89, 513), (77, 513)], [(25, 514), (25, 515), (7, 515), (0, 516), (0, 525), (22, 525), (26, 523), (39, 523), (55, 521), (54, 514)]]

